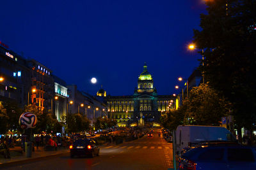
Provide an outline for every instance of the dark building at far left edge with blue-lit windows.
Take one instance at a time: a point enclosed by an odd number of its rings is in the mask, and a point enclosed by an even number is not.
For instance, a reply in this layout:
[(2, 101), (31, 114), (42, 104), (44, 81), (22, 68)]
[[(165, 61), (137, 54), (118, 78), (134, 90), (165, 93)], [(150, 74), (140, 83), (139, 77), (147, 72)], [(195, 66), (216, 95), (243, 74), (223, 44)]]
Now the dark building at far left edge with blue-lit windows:
[(12, 101), (22, 108), (28, 104), (30, 81), (26, 59), (0, 41), (0, 101)]

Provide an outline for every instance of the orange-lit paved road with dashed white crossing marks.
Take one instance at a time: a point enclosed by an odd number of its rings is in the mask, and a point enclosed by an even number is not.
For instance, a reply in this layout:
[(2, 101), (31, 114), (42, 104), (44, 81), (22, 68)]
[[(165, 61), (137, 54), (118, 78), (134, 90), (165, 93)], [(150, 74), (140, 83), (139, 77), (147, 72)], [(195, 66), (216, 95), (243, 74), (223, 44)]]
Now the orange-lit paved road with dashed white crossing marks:
[(70, 159), (69, 154), (51, 157), (7, 169), (168, 169), (172, 167), (172, 144), (154, 137), (102, 146), (100, 156)]

